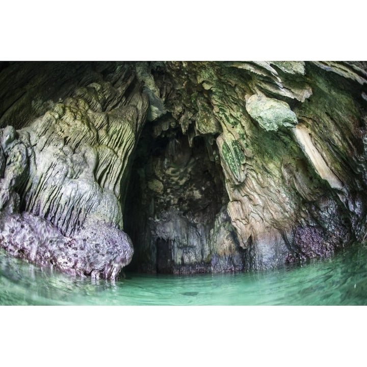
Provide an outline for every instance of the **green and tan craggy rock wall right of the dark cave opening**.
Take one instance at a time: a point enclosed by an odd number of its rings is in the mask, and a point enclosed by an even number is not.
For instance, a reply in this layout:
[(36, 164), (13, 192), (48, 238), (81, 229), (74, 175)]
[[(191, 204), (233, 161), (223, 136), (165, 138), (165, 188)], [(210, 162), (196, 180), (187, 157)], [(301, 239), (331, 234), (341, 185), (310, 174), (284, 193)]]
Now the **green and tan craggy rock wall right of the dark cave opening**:
[[(226, 256), (245, 269), (265, 269), (362, 240), (365, 64), (170, 62), (164, 82), (162, 68), (150, 63), (145, 70), (146, 88), (153, 79), (165, 112), (153, 120), (154, 134), (178, 125), (190, 145), (203, 137), (217, 154), (235, 233)], [(213, 221), (211, 231), (224, 248)], [(200, 241), (194, 247), (205, 248)], [(223, 256), (212, 248), (191, 263), (215, 271)], [(233, 269), (232, 260), (224, 264)]]

